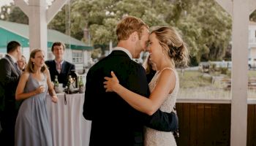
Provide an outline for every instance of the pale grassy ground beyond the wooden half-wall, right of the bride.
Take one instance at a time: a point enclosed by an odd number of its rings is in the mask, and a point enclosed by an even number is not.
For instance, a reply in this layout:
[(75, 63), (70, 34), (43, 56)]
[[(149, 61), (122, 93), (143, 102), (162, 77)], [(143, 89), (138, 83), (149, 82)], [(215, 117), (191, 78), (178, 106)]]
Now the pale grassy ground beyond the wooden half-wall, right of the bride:
[[(230, 88), (222, 79), (212, 82), (213, 76), (222, 76), (230, 79), (230, 74), (203, 74), (198, 71), (178, 71), (180, 79), (180, 91), (178, 98), (183, 99), (231, 99)], [(249, 70), (249, 79), (256, 79), (256, 71)], [(248, 98), (256, 98), (256, 90), (248, 90)]]

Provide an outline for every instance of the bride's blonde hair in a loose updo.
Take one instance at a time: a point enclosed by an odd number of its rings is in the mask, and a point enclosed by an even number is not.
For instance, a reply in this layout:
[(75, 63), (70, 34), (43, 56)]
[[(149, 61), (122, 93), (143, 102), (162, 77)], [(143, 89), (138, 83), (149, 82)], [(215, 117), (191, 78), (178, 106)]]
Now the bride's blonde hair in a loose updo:
[(187, 45), (174, 28), (156, 27), (151, 31), (151, 34), (156, 34), (159, 44), (163, 48), (163, 53), (169, 56), (176, 66), (187, 66), (189, 61)]

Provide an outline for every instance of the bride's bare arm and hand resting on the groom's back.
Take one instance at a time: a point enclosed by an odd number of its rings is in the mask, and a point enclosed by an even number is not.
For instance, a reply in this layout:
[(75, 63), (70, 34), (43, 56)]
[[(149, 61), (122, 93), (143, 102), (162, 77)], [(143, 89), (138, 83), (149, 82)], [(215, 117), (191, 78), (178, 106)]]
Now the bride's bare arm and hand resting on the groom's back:
[(163, 101), (165, 101), (167, 94), (173, 91), (176, 82), (173, 71), (170, 69), (163, 70), (154, 91), (151, 92), (149, 98), (146, 98), (124, 88), (118, 83), (118, 79), (113, 72), (111, 72), (111, 75), (112, 78), (105, 77), (105, 80), (107, 80), (104, 82), (106, 91), (118, 93), (133, 108), (148, 115), (153, 115), (159, 109)]

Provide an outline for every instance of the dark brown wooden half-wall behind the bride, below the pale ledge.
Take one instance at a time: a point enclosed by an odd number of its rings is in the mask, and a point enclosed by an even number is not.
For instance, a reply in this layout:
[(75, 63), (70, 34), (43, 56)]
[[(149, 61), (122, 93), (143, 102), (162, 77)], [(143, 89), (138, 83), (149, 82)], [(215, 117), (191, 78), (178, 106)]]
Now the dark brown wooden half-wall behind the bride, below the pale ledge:
[[(256, 102), (248, 101), (247, 146), (256, 145)], [(230, 100), (182, 100), (176, 103), (178, 146), (229, 146)]]

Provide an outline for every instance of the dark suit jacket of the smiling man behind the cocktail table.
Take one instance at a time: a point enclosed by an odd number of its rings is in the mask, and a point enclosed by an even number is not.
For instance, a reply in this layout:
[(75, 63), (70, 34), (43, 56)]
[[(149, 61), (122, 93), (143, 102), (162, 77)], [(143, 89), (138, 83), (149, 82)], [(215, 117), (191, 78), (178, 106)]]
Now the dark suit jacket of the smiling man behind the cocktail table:
[(48, 66), (50, 71), (50, 80), (54, 82), (55, 75), (58, 75), (59, 83), (63, 83), (64, 87), (67, 85), (67, 74), (69, 74), (71, 70), (75, 70), (75, 65), (69, 63), (68, 61), (64, 61), (61, 65), (61, 73), (57, 71), (56, 63), (54, 60), (45, 61), (45, 64)]

